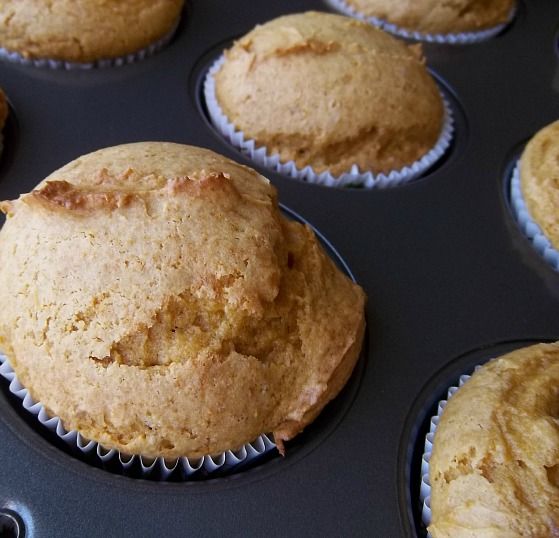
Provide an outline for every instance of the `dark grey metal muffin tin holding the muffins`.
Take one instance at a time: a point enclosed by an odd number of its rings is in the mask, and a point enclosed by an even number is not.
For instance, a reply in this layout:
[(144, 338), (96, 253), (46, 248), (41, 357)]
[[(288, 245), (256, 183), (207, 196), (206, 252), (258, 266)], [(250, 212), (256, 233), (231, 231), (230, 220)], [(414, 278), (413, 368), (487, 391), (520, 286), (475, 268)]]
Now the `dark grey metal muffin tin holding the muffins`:
[[(308, 9), (331, 10), (322, 0), (192, 0), (172, 42), (133, 65), (1, 63), (12, 115), (0, 199), (83, 153), (124, 142), (190, 143), (250, 165), (205, 115), (205, 71), (256, 23)], [(34, 537), (424, 537), (419, 469), (436, 403), (476, 364), (559, 337), (559, 275), (519, 230), (507, 194), (523, 144), (559, 118), (558, 28), (556, 1), (526, 1), (496, 38), (424, 46), (452, 97), (456, 137), (420, 179), (335, 189), (261, 169), (369, 296), (350, 383), (285, 458), (183, 483), (119, 476), (50, 439), (0, 381), (0, 529)]]

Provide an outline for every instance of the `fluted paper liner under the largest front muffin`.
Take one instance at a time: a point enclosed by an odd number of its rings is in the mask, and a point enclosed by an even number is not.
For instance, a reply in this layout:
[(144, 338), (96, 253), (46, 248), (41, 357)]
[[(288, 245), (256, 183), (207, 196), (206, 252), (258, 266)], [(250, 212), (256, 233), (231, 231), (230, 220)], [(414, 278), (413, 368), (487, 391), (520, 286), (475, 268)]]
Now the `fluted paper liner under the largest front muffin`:
[(0, 376), (9, 381), (9, 390), (22, 400), (22, 405), (39, 422), (55, 433), (71, 448), (76, 449), (86, 458), (97, 460), (102, 466), (108, 466), (121, 474), (131, 474), (134, 470), (143, 478), (166, 480), (173, 474), (182, 480), (198, 478), (200, 476), (220, 475), (224, 472), (240, 470), (264, 454), (276, 448), (272, 438), (266, 434), (260, 435), (251, 443), (246, 443), (238, 450), (227, 450), (218, 455), (208, 455), (201, 458), (181, 457), (177, 459), (145, 458), (130, 456), (118, 450), (106, 449), (96, 441), (90, 441), (75, 430), (66, 430), (60, 417), (48, 415), (41, 402), (35, 402), (29, 391), (18, 381), (8, 358), (0, 353)]

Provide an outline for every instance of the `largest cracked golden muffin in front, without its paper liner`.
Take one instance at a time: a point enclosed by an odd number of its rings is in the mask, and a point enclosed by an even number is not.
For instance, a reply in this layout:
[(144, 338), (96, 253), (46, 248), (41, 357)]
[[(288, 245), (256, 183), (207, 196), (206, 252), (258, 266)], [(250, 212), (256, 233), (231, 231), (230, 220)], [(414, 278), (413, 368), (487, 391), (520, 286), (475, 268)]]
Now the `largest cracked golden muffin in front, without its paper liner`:
[(351, 374), (363, 291), (249, 168), (123, 145), (2, 208), (0, 349), (66, 429), (148, 457), (282, 450)]

